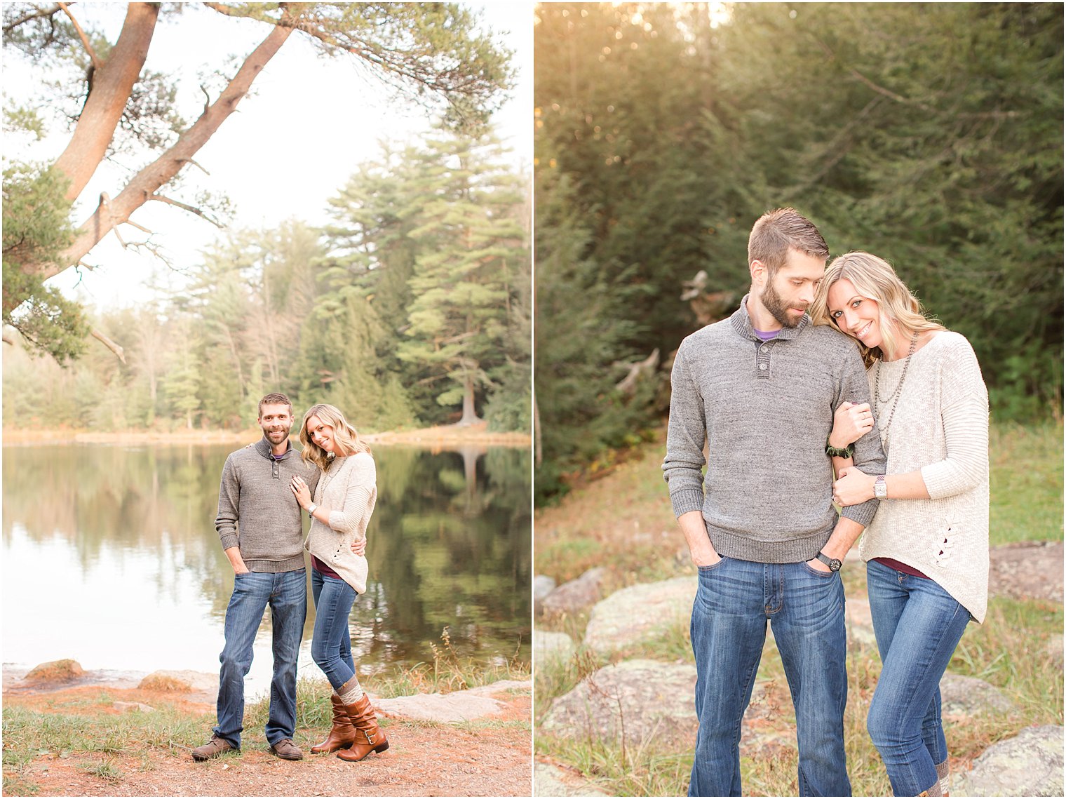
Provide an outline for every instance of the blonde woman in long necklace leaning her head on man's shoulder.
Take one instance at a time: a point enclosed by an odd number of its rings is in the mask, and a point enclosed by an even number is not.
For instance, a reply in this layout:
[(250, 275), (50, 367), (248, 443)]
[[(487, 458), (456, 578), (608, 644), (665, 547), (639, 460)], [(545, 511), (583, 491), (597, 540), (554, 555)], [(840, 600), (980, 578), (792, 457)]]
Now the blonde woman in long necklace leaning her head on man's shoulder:
[(811, 307), (858, 341), (873, 403), (837, 413), (829, 446), (875, 426), (887, 475), (835, 458), (834, 499), (882, 500), (859, 554), (883, 664), (867, 729), (895, 796), (947, 796), (940, 677), (988, 596), (988, 393), (969, 341), (922, 315), (889, 263), (836, 258)]

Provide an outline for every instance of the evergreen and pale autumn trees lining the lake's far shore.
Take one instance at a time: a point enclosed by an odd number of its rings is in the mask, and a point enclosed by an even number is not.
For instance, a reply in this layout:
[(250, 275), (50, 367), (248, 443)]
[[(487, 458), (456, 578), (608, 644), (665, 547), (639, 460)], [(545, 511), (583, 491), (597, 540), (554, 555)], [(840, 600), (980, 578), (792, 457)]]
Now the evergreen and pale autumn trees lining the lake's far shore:
[[(245, 429), (281, 390), (297, 424), (316, 402), (369, 431), (445, 424), (466, 399), (492, 429), (529, 430), (522, 178), (485, 134), (441, 130), (397, 156), (386, 147), (350, 178), (327, 228), (233, 231), (167, 302), (95, 318), (126, 342), (125, 364), (95, 347), (64, 371), (15, 348), (9, 424)], [(454, 375), (468, 363), (465, 396)]]

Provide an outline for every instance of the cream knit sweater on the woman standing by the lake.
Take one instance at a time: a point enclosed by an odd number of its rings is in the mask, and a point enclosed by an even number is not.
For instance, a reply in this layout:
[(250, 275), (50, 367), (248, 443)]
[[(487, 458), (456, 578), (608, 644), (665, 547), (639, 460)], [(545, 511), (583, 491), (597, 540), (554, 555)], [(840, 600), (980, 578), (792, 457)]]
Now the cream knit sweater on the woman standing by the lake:
[(367, 525), (377, 501), (377, 476), (369, 452), (335, 458), (319, 478), (314, 504), (329, 509), (329, 524), (311, 522), (304, 548), (364, 593), (367, 559), (352, 552), (352, 543), (367, 537)]

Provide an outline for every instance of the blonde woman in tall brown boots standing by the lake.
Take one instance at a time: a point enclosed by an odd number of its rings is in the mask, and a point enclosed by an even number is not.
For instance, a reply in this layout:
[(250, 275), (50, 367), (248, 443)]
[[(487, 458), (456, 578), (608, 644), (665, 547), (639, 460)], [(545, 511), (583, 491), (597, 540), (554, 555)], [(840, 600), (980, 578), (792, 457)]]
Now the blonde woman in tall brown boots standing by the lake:
[(311, 657), (334, 688), (329, 697), (333, 728), (311, 751), (336, 751), (341, 760), (361, 761), (371, 752), (389, 748), (370, 699), (355, 675), (348, 628), (356, 594), (367, 590), (367, 559), (362, 552), (367, 524), (377, 499), (374, 459), (355, 428), (333, 405), (313, 405), (304, 414), (300, 441), (304, 460), (322, 469), (313, 500), (307, 483), (298, 476), (292, 478), (291, 488), (311, 518), (304, 542), (311, 554), (316, 613)]

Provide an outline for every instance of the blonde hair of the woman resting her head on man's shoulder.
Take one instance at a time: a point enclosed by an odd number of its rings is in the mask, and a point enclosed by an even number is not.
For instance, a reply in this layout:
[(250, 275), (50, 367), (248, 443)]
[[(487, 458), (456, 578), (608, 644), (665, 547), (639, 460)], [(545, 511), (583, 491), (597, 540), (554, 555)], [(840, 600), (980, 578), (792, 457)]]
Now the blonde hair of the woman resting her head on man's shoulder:
[(814, 302), (810, 306), (810, 317), (814, 324), (833, 323), (838, 330), (840, 329), (837, 320), (829, 317), (828, 295), (833, 285), (844, 279), (851, 281), (860, 297), (877, 303), (882, 346), (870, 349), (856, 339), (862, 353), (862, 361), (868, 367), (877, 358), (897, 357), (895, 339), (890, 335), (892, 331), (900, 334), (900, 340), (908, 340), (916, 333), (944, 330), (942, 324), (925, 316), (922, 304), (903, 285), (891, 263), (861, 251), (845, 253), (834, 258), (826, 268)]

